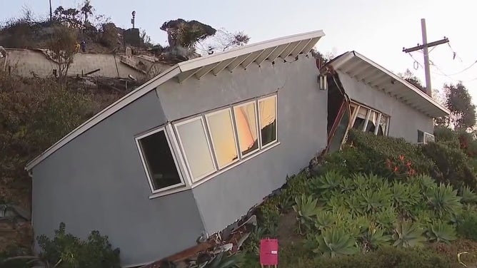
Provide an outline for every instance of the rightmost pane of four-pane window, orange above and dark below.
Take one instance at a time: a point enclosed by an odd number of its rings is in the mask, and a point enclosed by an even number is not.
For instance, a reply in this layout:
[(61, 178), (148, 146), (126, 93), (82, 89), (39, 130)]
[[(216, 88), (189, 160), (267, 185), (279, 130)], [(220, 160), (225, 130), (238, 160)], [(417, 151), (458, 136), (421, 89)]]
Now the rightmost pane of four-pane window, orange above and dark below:
[(276, 141), (276, 97), (258, 100), (258, 118), (260, 122), (261, 145)]

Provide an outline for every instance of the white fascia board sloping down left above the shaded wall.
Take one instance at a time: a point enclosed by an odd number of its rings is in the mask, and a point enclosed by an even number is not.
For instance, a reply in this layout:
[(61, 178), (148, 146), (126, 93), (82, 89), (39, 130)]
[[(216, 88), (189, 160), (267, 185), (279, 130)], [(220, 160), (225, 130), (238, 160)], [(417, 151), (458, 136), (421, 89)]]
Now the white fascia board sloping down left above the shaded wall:
[(164, 73), (159, 74), (159, 76), (156, 76), (156, 78), (151, 79), (139, 88), (136, 88), (134, 91), (131, 91), (123, 98), (116, 100), (114, 103), (104, 108), (99, 113), (96, 113), (96, 115), (94, 115), (92, 118), (89, 118), (89, 120), (86, 120), (86, 122), (79, 125), (79, 127), (75, 128), (69, 134), (61, 138), (61, 140), (56, 142), (54, 145), (51, 145), (50, 148), (46, 149), (43, 153), (41, 153), (41, 155), (34, 158), (34, 160), (31, 160), (28, 164), (26, 164), (25, 170), (31, 170), (32, 168), (34, 168), (35, 165), (38, 165), (38, 163), (43, 161), (45, 158), (47, 158), (59, 148), (66, 145), (66, 143), (69, 143), (71, 140), (81, 135), (81, 133), (84, 133), (89, 128), (92, 128), (97, 123), (109, 117), (109, 115), (112, 115), (118, 110), (121, 110), (121, 108), (124, 108), (126, 105), (129, 105), (129, 103), (132, 103), (134, 100), (140, 98), (141, 96), (144, 96), (146, 93), (149, 93), (149, 91), (154, 90), (154, 88), (161, 85), (162, 83), (168, 81), (171, 78), (174, 78), (174, 76), (177, 76), (179, 73), (180, 70), (178, 66), (173, 66), (167, 71), (164, 71)]

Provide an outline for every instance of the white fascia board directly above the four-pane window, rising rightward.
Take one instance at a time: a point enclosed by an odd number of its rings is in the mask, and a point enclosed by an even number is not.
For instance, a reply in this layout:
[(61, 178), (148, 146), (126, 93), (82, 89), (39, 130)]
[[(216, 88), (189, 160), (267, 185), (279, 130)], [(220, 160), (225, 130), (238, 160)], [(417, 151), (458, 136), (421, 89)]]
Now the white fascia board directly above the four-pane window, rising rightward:
[[(304, 39), (313, 39), (313, 38), (321, 38), (325, 36), (325, 33), (322, 30), (319, 31), (311, 31), (308, 33), (299, 33), (293, 36), (286, 36), (282, 38), (276, 38), (269, 41), (263, 41), (260, 43), (253, 43), (248, 46), (239, 46), (237, 48), (233, 48), (229, 51), (221, 52), (212, 54), (211, 56), (201, 57), (201, 58), (194, 58), (191, 61), (184, 61), (179, 63), (179, 68), (181, 71), (189, 71), (195, 68), (200, 68), (202, 66), (206, 66), (212, 63), (217, 63), (219, 61), (225, 61), (229, 58), (235, 58), (238, 56), (242, 56), (248, 53), (253, 53), (256, 51), (261, 51), (266, 48), (271, 48), (273, 46), (281, 46), (285, 43), (293, 43), (296, 41), (301, 41)], [(318, 40), (316, 41), (318, 42)]]

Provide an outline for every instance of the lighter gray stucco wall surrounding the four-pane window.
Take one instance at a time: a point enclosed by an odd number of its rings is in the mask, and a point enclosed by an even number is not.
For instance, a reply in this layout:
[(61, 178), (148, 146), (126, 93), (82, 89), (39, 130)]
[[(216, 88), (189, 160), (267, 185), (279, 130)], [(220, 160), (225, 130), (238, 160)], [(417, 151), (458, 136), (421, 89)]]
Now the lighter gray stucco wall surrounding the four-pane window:
[(266, 61), (234, 73), (201, 80), (174, 81), (159, 89), (169, 121), (278, 91), (278, 141), (275, 148), (193, 189), (206, 230), (214, 233), (245, 215), (263, 197), (281, 187), (326, 146), (327, 91), (319, 91), (314, 58)]

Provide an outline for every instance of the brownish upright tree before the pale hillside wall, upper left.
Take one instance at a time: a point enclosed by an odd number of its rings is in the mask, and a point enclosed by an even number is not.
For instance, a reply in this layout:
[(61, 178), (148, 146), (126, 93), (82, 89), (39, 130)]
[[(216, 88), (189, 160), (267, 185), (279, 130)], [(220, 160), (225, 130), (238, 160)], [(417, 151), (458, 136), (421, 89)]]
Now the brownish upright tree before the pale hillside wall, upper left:
[(46, 47), (51, 52), (51, 58), (58, 65), (58, 75), (64, 80), (68, 73), (69, 66), (73, 63), (76, 54), (77, 34), (74, 29), (66, 26), (58, 26), (54, 29), (54, 34), (46, 43)]

